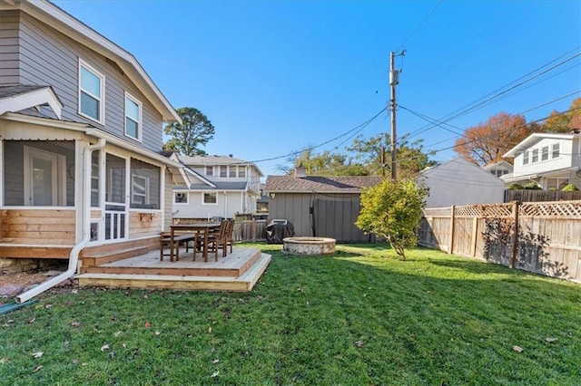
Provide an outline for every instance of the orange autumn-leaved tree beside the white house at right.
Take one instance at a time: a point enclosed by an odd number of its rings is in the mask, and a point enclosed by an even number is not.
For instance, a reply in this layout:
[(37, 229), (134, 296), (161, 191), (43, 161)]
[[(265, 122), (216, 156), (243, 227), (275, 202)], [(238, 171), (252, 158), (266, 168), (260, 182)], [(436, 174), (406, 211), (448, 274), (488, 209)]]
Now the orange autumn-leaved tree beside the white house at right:
[(468, 128), (458, 138), (454, 151), (480, 166), (502, 159), (502, 155), (530, 134), (523, 115), (499, 112), (484, 123)]

